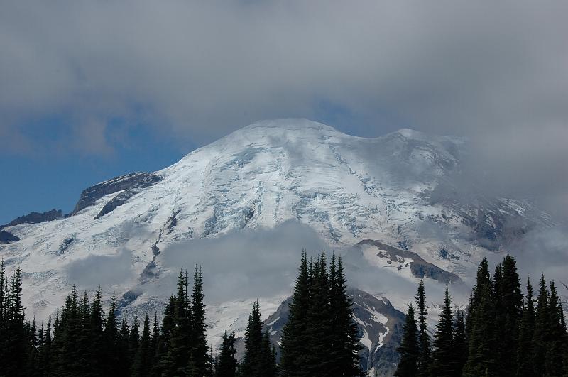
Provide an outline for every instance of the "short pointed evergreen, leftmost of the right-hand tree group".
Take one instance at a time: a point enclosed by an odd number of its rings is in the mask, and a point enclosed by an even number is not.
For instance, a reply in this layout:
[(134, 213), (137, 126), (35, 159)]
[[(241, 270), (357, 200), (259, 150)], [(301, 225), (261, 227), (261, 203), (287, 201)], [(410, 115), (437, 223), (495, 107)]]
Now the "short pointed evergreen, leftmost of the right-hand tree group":
[(412, 304), (408, 305), (408, 311), (406, 312), (406, 319), (403, 326), (403, 338), (397, 351), (398, 354), (400, 354), (400, 361), (398, 361), (395, 376), (417, 376), (420, 348), (418, 346), (418, 328), (416, 326), (414, 307)]

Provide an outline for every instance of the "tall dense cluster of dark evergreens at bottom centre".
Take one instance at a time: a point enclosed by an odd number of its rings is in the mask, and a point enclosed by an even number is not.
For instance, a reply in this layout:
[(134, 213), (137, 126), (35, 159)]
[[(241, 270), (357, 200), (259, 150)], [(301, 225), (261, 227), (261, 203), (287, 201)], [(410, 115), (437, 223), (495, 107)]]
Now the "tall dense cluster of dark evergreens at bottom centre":
[(302, 253), (288, 322), (283, 329), (283, 376), (359, 376), (357, 327), (341, 258)]

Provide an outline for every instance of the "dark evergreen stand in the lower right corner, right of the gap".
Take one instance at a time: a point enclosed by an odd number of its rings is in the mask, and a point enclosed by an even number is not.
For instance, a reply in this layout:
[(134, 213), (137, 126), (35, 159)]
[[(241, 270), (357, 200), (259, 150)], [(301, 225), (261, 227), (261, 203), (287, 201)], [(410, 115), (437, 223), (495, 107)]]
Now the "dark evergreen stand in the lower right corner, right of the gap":
[(433, 339), (420, 282), (395, 376), (568, 376), (568, 333), (555, 282), (547, 284), (542, 274), (535, 300), (530, 279), (521, 293), (517, 270), (506, 256), (491, 276), (484, 258), (466, 312), (452, 310), (446, 287)]

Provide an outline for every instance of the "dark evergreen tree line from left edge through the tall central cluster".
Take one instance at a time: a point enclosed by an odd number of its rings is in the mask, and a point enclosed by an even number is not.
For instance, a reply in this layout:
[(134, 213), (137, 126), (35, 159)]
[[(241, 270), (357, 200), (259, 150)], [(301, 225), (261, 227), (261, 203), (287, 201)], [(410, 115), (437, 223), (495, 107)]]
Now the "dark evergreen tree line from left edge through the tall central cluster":
[(201, 268), (192, 284), (187, 270), (165, 306), (163, 319), (117, 317), (116, 297), (104, 310), (101, 288), (89, 298), (73, 287), (65, 304), (45, 324), (26, 319), (21, 270), (6, 276), (0, 261), (0, 376), (359, 376), (359, 350), (341, 258), (302, 253), (299, 275), (278, 344), (263, 330), (258, 301), (236, 359), (234, 332), (218, 349), (207, 344)]

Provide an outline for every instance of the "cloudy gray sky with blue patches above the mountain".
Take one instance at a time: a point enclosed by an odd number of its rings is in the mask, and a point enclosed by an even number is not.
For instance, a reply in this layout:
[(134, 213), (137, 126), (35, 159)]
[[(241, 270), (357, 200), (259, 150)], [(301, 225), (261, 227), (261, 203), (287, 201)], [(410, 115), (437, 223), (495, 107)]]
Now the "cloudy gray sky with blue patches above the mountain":
[(464, 136), (568, 213), (566, 1), (1, 1), (0, 224), (261, 119)]

